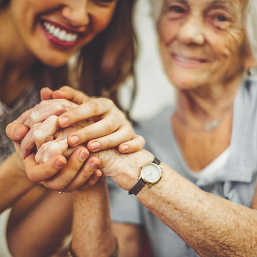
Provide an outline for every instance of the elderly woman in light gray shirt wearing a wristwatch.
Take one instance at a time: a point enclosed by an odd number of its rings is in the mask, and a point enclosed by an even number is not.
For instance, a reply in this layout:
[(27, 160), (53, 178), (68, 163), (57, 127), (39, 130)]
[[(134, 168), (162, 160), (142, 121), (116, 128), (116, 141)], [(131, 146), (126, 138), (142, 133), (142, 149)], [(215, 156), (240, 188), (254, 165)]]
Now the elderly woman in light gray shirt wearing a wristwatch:
[(109, 187), (115, 223), (105, 178), (76, 192), (72, 252), (109, 256), (118, 251), (116, 235), (119, 256), (139, 256), (144, 227), (154, 256), (256, 256), (257, 85), (245, 78), (255, 61), (244, 29), (256, 4), (155, 0), (153, 6), (177, 102), (139, 123), (147, 151), (97, 155), (103, 174), (123, 189)]

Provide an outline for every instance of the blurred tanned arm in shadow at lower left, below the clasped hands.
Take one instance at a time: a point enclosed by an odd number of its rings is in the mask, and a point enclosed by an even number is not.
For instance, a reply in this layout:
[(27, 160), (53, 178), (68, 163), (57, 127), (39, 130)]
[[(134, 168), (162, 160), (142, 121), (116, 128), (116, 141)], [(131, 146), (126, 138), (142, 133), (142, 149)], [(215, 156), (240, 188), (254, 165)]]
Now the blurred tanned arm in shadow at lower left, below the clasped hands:
[(50, 256), (70, 233), (72, 195), (42, 189), (34, 188), (12, 209), (7, 238), (13, 256)]

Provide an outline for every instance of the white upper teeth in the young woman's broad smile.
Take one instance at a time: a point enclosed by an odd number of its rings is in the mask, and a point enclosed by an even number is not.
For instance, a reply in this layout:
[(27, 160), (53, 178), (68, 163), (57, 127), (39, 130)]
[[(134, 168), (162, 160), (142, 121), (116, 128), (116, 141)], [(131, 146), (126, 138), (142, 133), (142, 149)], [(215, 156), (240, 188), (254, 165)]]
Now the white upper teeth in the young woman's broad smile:
[(63, 29), (56, 28), (48, 22), (43, 23), (44, 28), (55, 38), (63, 42), (74, 42), (79, 38), (79, 35), (76, 33), (68, 33)]

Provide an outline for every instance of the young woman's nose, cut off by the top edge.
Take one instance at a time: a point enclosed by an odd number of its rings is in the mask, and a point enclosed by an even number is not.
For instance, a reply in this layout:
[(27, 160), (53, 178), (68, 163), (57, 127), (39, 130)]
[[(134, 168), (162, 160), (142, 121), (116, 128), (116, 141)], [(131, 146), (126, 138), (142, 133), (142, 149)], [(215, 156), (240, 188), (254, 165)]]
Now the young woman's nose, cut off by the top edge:
[(89, 23), (88, 0), (69, 0), (62, 8), (62, 15), (72, 27), (86, 26)]

